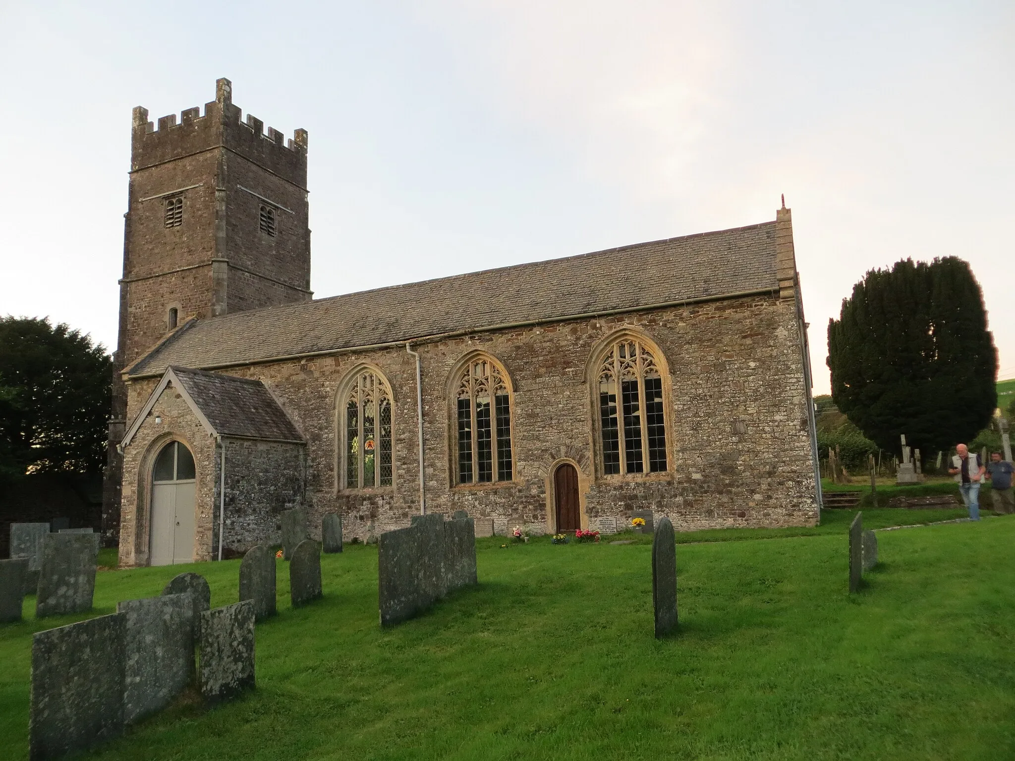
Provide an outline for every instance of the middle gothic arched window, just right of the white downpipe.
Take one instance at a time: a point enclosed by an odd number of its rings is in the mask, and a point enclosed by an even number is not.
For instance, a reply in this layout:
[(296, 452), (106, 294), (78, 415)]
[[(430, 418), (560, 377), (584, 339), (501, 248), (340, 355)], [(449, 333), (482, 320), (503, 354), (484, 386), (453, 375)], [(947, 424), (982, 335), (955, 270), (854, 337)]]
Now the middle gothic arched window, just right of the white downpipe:
[(458, 377), (456, 482), (511, 481), (511, 389), (506, 373), (489, 357), (472, 359)]

